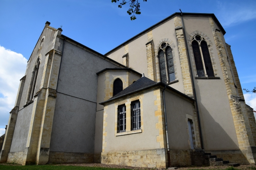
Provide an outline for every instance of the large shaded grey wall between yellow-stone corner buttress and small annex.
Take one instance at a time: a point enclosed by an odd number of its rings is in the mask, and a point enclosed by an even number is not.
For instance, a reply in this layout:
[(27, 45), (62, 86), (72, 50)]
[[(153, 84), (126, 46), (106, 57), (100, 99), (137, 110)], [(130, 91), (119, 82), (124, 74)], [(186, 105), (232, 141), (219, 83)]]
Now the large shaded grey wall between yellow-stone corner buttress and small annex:
[[(117, 66), (71, 41), (65, 42), (52, 127), (50, 161), (93, 162), (94, 157), (96, 161), (100, 160), (98, 154), (102, 150), (102, 130), (95, 131), (98, 87), (96, 72), (114, 67)], [(94, 148), (95, 138), (100, 137), (101, 145)], [(95, 156), (94, 150), (98, 151)]]

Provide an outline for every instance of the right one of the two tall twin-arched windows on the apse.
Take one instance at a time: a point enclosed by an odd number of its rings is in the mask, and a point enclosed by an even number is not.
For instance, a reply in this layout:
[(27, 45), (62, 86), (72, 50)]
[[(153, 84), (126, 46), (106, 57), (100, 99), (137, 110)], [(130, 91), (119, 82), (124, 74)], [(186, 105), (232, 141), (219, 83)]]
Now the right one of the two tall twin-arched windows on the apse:
[(192, 39), (192, 49), (198, 77), (214, 77), (208, 45), (201, 35)]

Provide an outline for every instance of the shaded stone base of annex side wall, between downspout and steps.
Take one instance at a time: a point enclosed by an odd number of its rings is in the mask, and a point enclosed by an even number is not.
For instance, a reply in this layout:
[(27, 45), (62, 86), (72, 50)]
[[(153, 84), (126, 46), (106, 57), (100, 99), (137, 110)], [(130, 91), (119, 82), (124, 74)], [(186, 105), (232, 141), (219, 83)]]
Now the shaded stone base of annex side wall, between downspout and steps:
[[(191, 166), (190, 150), (170, 149), (171, 166)], [(168, 161), (168, 159), (166, 160)]]

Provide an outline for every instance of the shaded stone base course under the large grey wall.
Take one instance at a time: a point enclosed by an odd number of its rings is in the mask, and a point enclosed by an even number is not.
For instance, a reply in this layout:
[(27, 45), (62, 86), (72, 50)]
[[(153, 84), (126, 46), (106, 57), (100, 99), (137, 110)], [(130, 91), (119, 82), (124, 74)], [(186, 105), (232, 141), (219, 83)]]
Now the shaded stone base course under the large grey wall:
[(94, 153), (51, 152), (49, 161), (52, 163), (91, 163), (94, 162)]

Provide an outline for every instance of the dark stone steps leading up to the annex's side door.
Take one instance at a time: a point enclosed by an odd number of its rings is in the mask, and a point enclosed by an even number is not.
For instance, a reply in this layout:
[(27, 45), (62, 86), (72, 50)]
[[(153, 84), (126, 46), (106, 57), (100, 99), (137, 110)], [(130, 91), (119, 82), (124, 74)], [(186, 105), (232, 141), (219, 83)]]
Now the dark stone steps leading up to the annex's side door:
[(193, 149), (191, 152), (192, 165), (195, 166), (240, 166), (240, 164), (230, 164), (228, 160), (217, 158), (216, 155), (204, 152), (204, 149)]

